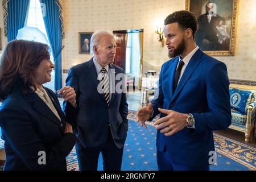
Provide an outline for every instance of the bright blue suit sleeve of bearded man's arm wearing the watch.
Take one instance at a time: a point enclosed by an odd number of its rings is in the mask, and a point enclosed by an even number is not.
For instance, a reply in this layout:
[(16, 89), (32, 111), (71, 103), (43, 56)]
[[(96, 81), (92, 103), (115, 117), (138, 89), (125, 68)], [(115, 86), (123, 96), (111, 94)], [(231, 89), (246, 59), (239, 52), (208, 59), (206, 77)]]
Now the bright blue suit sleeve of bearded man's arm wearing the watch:
[(206, 80), (209, 112), (192, 113), (195, 118), (195, 132), (222, 130), (231, 124), (229, 78), (226, 65), (217, 63), (210, 70)]

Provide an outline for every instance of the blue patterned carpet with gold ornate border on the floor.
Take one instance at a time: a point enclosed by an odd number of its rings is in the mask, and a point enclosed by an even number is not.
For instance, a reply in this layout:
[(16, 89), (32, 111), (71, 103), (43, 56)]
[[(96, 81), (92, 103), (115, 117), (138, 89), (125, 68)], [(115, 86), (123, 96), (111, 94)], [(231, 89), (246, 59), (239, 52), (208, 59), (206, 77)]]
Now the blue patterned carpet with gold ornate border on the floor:
[[(158, 170), (156, 165), (156, 130), (151, 123), (144, 129), (135, 122), (135, 112), (130, 111), (129, 131), (123, 151), (122, 170), (147, 171)], [(156, 118), (157, 119), (157, 118)], [(153, 121), (154, 122), (154, 121)], [(217, 151), (217, 164), (210, 166), (212, 171), (256, 171), (256, 148), (236, 140), (214, 134), (215, 148)], [(3, 140), (0, 139), (0, 148)], [(68, 170), (79, 170), (75, 147), (67, 157)], [(98, 162), (98, 170), (102, 170), (102, 158)]]

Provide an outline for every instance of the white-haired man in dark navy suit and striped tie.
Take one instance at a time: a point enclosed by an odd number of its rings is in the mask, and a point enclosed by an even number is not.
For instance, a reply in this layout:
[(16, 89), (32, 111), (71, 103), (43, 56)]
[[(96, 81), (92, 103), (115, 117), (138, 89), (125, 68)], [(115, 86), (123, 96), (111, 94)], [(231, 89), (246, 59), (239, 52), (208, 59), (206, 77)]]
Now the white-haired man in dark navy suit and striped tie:
[(69, 70), (66, 85), (75, 89), (77, 105), (64, 102), (64, 111), (79, 139), (80, 170), (97, 170), (100, 152), (104, 170), (121, 170), (128, 130), (124, 71), (112, 64), (116, 44), (110, 32), (94, 32), (90, 46), (93, 58)]

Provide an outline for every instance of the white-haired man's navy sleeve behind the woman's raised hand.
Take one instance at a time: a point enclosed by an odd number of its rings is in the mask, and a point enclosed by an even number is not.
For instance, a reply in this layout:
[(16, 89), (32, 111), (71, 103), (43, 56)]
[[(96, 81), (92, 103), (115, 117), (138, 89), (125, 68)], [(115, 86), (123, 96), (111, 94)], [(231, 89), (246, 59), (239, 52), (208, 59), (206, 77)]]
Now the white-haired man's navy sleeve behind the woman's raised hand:
[(66, 121), (68, 123), (70, 123), (73, 127), (75, 127), (76, 126), (76, 123), (75, 123), (76, 116), (79, 111), (79, 100), (77, 100), (77, 98), (79, 98), (79, 83), (77, 81), (77, 77), (76, 77), (75, 73), (73, 72), (72, 68), (69, 69), (68, 76), (66, 79), (66, 86), (71, 86), (72, 88), (74, 88), (74, 90), (76, 92), (77, 107), (73, 107), (67, 101), (63, 102), (63, 111), (65, 113)]

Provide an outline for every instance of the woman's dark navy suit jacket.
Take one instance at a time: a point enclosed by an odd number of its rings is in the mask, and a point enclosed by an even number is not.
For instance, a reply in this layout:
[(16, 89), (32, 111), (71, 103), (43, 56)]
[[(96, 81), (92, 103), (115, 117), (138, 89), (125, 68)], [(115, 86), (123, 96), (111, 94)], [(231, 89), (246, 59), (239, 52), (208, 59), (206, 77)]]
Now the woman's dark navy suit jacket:
[[(6, 152), (4, 170), (67, 170), (65, 157), (75, 145), (75, 135), (64, 134), (65, 116), (59, 101), (52, 90), (45, 89), (63, 126), (36, 93), (14, 90), (0, 110)], [(42, 156), (39, 151), (46, 152), (46, 165), (38, 164)]]

